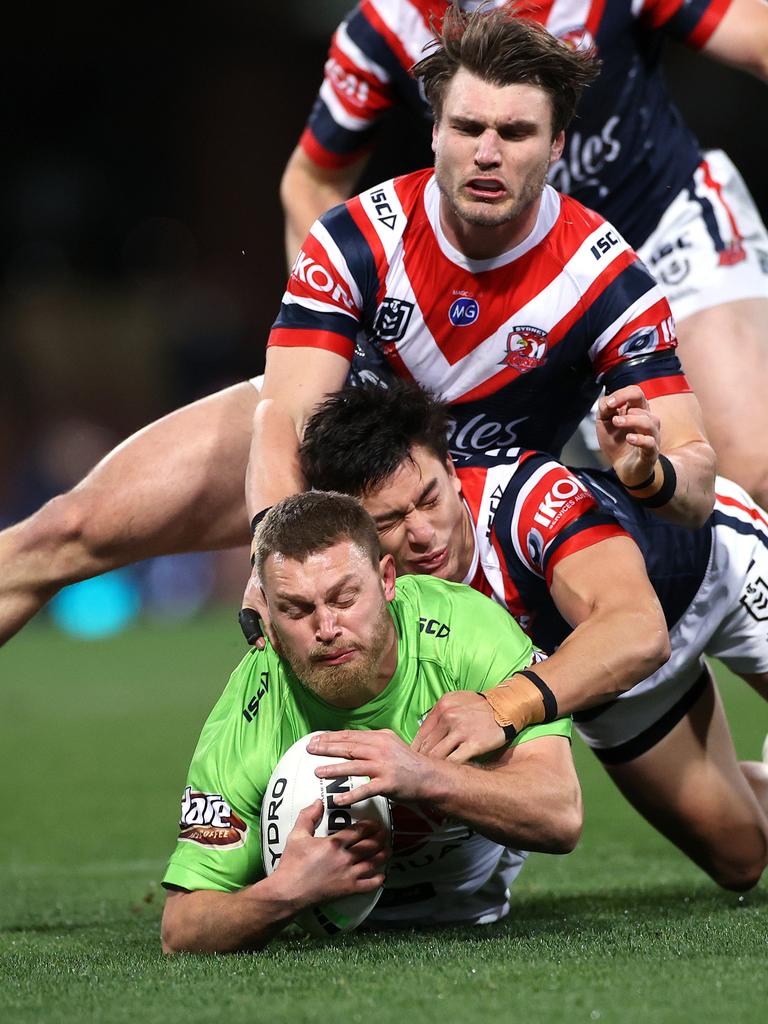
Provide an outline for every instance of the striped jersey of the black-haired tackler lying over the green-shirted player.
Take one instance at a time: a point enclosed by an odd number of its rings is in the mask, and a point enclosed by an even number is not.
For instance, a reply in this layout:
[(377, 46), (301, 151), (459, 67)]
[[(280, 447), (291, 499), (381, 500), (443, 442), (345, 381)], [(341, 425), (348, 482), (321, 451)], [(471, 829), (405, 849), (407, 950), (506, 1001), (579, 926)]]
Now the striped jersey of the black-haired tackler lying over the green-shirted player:
[[(631, 537), (672, 629), (712, 571), (716, 530), (750, 535), (768, 547), (765, 513), (720, 477), (708, 522), (688, 529), (643, 509), (611, 471), (567, 469), (538, 452), (521, 451), (504, 465), (460, 467), (458, 473), (476, 538), (464, 582), (508, 608), (550, 653), (571, 632), (550, 596), (552, 578), (557, 564), (577, 551)], [(739, 551), (733, 557), (744, 556)], [(715, 571), (727, 571), (728, 558), (715, 561), (723, 563)], [(748, 568), (740, 565), (742, 574)]]

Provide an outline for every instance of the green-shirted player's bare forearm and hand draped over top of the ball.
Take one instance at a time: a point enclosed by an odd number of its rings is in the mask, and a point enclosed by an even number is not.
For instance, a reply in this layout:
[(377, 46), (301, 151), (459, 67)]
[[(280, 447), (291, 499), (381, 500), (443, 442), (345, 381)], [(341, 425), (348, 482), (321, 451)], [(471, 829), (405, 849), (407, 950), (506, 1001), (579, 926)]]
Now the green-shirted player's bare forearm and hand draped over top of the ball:
[(325, 778), (368, 775), (371, 781), (334, 797), (339, 805), (374, 794), (427, 801), (505, 846), (569, 853), (582, 829), (582, 795), (563, 736), (538, 736), (505, 751), (493, 764), (460, 765), (417, 754), (389, 729), (327, 732), (312, 754), (351, 756), (353, 764), (316, 769)]

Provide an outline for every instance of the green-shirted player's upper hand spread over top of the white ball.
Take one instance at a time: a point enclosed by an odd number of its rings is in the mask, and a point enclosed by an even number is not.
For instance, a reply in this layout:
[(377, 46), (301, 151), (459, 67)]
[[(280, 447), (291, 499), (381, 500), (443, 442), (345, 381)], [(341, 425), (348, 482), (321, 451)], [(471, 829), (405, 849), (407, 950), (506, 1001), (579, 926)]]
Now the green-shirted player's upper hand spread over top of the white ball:
[(310, 754), (349, 759), (316, 768), (314, 774), (318, 778), (368, 775), (371, 779), (349, 793), (334, 794), (334, 802), (340, 807), (378, 796), (393, 800), (429, 799), (439, 772), (437, 763), (417, 754), (391, 729), (324, 732), (312, 737), (307, 750)]

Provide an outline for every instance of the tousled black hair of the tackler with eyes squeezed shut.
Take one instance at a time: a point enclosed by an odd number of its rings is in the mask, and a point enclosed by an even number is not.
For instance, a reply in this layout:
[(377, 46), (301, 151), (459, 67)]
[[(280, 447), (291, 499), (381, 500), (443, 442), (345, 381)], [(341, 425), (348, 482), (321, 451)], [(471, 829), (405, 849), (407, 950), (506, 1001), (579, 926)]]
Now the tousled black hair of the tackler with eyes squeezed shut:
[(347, 384), (311, 416), (299, 449), (310, 487), (365, 497), (388, 479), (420, 444), (445, 462), (445, 406), (408, 381)]

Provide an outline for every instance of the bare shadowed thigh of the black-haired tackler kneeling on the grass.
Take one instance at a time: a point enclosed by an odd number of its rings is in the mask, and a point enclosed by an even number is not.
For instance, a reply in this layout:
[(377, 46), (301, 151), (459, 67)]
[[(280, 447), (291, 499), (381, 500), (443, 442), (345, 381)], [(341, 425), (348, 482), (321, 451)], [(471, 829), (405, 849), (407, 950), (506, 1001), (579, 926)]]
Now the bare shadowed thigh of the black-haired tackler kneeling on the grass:
[(650, 751), (606, 771), (630, 803), (717, 882), (754, 884), (768, 820), (744, 778), (712, 680)]

